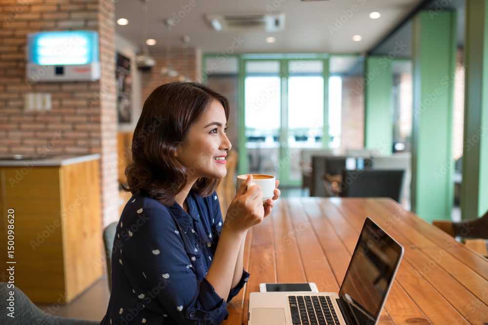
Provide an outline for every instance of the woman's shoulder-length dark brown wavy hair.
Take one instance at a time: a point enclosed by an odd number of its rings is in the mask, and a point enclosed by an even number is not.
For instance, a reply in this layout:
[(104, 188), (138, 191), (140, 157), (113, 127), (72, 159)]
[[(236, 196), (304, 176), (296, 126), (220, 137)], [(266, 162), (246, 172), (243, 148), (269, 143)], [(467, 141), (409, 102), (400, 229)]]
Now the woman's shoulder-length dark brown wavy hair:
[[(203, 84), (177, 81), (156, 88), (144, 102), (134, 130), (132, 163), (125, 169), (127, 187), (122, 186), (123, 190), (172, 205), (192, 172), (176, 159), (176, 148), (214, 99), (224, 106), (228, 120), (227, 98)], [(208, 196), (219, 182), (220, 179), (201, 177), (192, 189)]]

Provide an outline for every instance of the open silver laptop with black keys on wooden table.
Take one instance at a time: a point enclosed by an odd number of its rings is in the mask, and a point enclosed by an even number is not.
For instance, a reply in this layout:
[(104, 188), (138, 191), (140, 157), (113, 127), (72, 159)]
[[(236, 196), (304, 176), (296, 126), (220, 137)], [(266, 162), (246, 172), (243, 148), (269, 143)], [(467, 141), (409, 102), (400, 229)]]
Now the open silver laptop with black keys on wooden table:
[(339, 293), (251, 292), (248, 325), (376, 325), (404, 249), (369, 217)]

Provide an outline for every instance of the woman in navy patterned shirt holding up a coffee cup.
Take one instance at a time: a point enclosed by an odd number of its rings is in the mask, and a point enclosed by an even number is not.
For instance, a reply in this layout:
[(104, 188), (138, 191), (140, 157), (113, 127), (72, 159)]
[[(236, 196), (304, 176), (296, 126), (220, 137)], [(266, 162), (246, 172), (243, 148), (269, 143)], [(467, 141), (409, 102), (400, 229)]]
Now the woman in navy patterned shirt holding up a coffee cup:
[[(215, 188), (226, 174), (227, 98), (173, 82), (146, 99), (126, 169), (133, 196), (112, 252), (112, 292), (102, 325), (221, 324), (247, 282), (247, 229), (271, 212), (250, 176), (223, 219)], [(276, 187), (278, 187), (278, 181)], [(117, 244), (117, 245), (115, 245)]]

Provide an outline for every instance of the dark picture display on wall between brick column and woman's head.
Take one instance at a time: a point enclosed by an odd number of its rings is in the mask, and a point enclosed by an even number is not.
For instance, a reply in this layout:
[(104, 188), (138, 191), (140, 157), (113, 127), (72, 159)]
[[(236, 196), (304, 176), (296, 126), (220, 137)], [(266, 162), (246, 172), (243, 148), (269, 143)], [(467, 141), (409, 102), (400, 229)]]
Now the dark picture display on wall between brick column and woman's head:
[(130, 59), (117, 54), (117, 115), (119, 123), (130, 123), (132, 116), (132, 77), (130, 75)]

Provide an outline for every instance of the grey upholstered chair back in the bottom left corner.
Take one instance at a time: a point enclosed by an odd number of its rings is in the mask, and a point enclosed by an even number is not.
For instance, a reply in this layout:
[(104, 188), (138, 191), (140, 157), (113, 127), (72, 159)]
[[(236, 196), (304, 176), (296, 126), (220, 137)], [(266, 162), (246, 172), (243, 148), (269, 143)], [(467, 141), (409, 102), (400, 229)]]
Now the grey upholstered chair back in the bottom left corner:
[[(18, 287), (7, 287), (5, 282), (0, 283), (0, 324), (2, 325), (99, 325), (100, 321), (89, 321), (75, 318), (64, 318), (53, 316), (43, 312)], [(10, 291), (14, 294), (10, 295)], [(14, 300), (15, 318), (8, 316), (11, 310), (8, 309), (9, 299)]]

